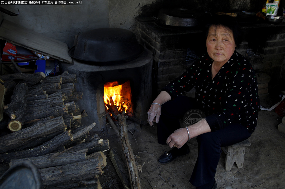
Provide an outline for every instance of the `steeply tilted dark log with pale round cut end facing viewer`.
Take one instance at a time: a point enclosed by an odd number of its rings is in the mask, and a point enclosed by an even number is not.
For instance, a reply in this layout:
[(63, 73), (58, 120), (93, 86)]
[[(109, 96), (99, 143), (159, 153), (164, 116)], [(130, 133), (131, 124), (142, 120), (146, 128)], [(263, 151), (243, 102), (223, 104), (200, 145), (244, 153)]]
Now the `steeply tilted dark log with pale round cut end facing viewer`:
[(25, 121), (25, 110), (27, 107), (27, 99), (25, 94), (28, 87), (24, 84), (17, 84), (13, 95), (11, 96), (11, 103), (4, 106), (4, 112), (11, 119), (8, 127), (11, 131), (18, 131), (22, 128)]

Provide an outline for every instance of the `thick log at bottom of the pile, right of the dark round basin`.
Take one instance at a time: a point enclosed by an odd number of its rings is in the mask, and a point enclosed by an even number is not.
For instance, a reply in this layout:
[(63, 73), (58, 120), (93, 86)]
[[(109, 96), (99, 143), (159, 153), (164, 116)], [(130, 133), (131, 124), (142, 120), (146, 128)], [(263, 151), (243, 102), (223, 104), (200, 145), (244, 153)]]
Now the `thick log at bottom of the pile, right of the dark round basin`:
[(99, 164), (99, 158), (90, 158), (68, 165), (39, 169), (42, 177), (42, 186), (50, 187), (94, 178), (96, 175), (103, 173), (102, 167)]

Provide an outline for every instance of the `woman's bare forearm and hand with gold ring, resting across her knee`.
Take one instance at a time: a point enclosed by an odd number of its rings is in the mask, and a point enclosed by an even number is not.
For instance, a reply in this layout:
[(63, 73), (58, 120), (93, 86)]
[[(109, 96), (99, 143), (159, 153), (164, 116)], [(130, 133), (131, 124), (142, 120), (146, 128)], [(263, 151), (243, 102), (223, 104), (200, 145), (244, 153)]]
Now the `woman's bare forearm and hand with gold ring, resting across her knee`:
[(189, 131), (189, 136), (186, 127), (177, 129), (167, 138), (166, 144), (168, 144), (170, 148), (172, 148), (174, 144), (177, 146), (177, 148), (181, 148), (181, 146), (183, 146), (189, 138), (193, 138), (206, 132), (211, 132), (210, 126), (205, 119), (202, 119), (199, 122), (188, 126), (187, 128)]

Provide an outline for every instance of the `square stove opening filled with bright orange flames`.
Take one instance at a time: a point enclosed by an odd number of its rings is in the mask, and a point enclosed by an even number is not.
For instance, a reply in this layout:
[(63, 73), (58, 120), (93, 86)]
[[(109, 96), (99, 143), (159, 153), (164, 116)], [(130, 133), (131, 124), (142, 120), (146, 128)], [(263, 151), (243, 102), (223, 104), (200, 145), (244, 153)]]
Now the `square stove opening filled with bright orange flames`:
[(130, 81), (115, 81), (104, 84), (104, 103), (108, 112), (107, 104), (111, 101), (117, 106), (120, 113), (133, 116), (133, 103)]

